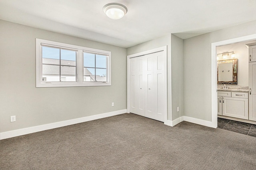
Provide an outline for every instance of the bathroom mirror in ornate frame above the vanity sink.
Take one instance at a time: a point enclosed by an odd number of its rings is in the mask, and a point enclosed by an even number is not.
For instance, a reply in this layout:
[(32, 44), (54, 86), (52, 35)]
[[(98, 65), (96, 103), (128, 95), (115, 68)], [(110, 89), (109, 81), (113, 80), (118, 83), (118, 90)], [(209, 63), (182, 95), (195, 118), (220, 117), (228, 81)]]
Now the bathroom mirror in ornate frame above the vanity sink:
[(237, 84), (237, 59), (217, 61), (218, 84)]

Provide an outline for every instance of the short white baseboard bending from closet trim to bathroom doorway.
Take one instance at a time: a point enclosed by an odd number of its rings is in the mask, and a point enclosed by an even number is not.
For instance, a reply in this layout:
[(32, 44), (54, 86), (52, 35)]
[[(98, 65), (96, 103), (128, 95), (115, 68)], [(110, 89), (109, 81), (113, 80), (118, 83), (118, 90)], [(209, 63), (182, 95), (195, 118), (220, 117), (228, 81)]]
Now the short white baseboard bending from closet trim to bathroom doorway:
[(213, 123), (211, 121), (205, 121), (202, 119), (196, 119), (196, 118), (188, 117), (188, 116), (179, 117), (178, 119), (175, 119), (174, 121), (167, 120), (166, 125), (173, 127), (182, 121), (188, 121), (190, 123), (195, 123), (198, 125), (216, 128), (216, 125), (213, 125)]

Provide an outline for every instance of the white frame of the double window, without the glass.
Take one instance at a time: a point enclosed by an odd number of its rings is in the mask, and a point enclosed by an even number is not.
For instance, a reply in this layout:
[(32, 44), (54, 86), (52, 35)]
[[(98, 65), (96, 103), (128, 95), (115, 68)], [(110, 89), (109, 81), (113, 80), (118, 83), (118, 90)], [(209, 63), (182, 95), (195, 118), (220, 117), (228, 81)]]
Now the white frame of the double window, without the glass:
[[(77, 81), (76, 82), (42, 81), (42, 45), (44, 46), (47, 45), (48, 47), (72, 49), (77, 51), (77, 61), (76, 61), (77, 62), (77, 65), (76, 65)], [(98, 82), (98, 81), (85, 82), (84, 81), (84, 63), (83, 63), (84, 51), (90, 51), (90, 53), (103, 54), (107, 56), (106, 82)], [(76, 87), (76, 86), (111, 86), (111, 52), (36, 38), (36, 87)]]

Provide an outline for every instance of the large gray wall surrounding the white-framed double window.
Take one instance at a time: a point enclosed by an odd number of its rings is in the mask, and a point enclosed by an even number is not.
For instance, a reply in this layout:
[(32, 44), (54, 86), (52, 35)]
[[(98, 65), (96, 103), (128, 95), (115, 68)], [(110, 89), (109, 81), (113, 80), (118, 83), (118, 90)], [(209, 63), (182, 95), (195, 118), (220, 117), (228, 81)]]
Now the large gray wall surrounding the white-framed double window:
[[(0, 25), (0, 132), (126, 109), (126, 48), (3, 20)], [(111, 51), (112, 86), (36, 88), (36, 38)], [(10, 123), (11, 115), (16, 122)]]

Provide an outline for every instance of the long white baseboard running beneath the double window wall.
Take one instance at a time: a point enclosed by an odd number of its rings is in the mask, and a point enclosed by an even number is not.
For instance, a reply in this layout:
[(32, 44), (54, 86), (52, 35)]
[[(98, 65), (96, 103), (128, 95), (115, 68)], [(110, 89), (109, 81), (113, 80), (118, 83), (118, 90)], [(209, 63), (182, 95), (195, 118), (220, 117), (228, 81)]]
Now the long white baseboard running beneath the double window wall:
[(0, 133), (0, 140), (127, 113), (127, 109)]

